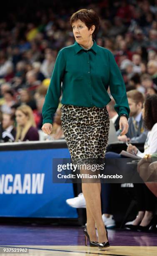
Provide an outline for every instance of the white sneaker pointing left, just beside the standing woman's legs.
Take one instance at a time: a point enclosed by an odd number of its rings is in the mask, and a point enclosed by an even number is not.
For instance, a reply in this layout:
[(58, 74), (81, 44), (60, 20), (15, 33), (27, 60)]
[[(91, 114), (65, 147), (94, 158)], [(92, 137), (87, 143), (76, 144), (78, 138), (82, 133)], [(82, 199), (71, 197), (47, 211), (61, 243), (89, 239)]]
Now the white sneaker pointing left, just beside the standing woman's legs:
[(80, 193), (77, 197), (67, 199), (66, 203), (74, 208), (86, 208), (86, 201), (83, 193)]

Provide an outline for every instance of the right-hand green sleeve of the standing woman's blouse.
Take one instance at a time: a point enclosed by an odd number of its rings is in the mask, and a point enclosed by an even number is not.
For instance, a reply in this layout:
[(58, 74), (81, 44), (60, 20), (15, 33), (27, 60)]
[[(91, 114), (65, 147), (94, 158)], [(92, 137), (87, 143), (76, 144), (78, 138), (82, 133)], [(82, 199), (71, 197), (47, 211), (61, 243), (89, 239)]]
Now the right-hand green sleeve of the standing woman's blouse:
[(108, 52), (109, 52), (109, 62), (110, 62), (109, 86), (110, 86), (111, 95), (116, 102), (115, 110), (117, 111), (119, 116), (121, 114), (126, 114), (129, 117), (130, 108), (127, 100), (125, 83), (112, 52), (110, 51)]

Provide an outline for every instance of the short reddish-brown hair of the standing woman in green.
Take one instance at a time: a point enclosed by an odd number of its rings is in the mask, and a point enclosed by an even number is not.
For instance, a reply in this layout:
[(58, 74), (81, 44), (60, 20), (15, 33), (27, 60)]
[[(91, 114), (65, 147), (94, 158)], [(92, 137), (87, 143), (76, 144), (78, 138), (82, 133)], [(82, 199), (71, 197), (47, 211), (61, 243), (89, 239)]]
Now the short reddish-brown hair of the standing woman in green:
[(81, 20), (88, 29), (90, 29), (92, 25), (95, 25), (95, 31), (92, 33), (92, 37), (95, 37), (100, 27), (100, 20), (94, 10), (80, 9), (76, 13), (73, 13), (70, 17), (71, 26), (76, 20)]

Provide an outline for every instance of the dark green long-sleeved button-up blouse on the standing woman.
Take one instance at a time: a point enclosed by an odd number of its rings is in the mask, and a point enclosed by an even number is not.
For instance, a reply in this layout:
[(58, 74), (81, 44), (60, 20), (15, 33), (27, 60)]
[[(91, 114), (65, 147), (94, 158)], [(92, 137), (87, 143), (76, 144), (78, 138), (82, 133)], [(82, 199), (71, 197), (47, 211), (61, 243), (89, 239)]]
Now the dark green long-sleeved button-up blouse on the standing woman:
[(93, 41), (89, 50), (75, 41), (58, 52), (42, 108), (43, 124), (52, 123), (61, 92), (62, 104), (104, 108), (111, 100), (107, 93), (109, 86), (118, 115), (129, 116), (125, 83), (115, 58)]

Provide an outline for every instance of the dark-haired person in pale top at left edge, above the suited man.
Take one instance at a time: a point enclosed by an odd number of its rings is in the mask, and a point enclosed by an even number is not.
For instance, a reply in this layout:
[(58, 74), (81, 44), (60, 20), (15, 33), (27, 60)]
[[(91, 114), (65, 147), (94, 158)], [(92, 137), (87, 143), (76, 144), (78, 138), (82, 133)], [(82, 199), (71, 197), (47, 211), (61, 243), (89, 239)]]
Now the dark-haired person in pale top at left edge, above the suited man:
[(1, 111), (3, 113), (11, 113), (11, 106), (15, 104), (14, 92), (12, 90), (7, 90), (4, 93), (5, 103), (1, 106)]

